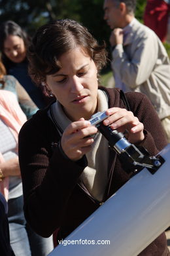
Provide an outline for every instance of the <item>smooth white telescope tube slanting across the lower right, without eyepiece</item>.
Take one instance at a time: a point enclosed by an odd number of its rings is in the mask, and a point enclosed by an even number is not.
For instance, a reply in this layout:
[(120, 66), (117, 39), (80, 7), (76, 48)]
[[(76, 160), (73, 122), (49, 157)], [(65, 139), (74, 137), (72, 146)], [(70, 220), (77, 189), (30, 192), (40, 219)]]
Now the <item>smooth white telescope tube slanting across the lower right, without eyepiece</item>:
[(131, 178), (49, 256), (137, 256), (143, 251), (170, 226), (170, 144), (160, 155), (165, 163), (154, 175), (144, 168)]

